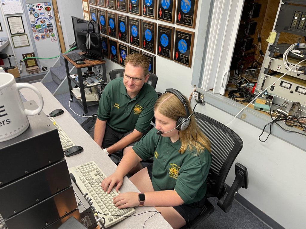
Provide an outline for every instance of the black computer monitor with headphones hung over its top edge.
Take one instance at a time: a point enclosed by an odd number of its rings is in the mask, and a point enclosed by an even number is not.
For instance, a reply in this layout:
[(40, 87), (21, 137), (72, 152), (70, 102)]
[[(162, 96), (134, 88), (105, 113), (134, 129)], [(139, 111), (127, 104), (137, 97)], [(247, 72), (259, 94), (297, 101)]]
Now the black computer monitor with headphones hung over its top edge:
[[(71, 16), (76, 47), (88, 53), (84, 58), (88, 60), (104, 60), (100, 38), (100, 25), (91, 21)], [(88, 42), (88, 45), (86, 45)]]

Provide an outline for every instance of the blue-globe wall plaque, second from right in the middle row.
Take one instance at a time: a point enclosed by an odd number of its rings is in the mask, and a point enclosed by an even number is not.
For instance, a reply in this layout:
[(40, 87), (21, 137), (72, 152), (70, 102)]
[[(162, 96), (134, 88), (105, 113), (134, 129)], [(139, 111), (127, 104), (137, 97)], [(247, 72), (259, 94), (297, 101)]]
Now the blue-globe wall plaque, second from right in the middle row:
[(158, 25), (157, 28), (157, 55), (172, 60), (174, 27)]

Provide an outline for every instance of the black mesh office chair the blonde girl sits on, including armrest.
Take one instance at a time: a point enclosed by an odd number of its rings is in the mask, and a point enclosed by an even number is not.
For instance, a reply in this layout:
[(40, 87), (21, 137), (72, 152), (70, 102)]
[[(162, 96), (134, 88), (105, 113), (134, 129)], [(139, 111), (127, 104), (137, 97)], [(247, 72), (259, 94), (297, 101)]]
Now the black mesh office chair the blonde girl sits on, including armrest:
[[(224, 182), (235, 158), (242, 149), (243, 142), (235, 132), (220, 122), (198, 112), (194, 113), (198, 128), (211, 141), (212, 163), (207, 177), (206, 197), (218, 197), (218, 206), (224, 212), (228, 212), (238, 189), (248, 188), (248, 170), (240, 163), (236, 163), (236, 177), (225, 197), (227, 187)], [(182, 229), (196, 228), (214, 212), (214, 209), (214, 206), (206, 199), (200, 214)]]

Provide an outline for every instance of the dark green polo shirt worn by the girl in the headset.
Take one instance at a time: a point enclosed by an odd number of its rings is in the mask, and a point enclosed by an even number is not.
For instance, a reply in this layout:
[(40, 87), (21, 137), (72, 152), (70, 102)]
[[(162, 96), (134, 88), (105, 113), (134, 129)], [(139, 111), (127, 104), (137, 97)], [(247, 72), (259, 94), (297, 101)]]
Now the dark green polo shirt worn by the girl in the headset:
[(158, 139), (156, 129), (151, 129), (133, 146), (133, 150), (141, 159), (153, 157), (154, 190), (175, 190), (185, 204), (203, 199), (211, 166), (209, 151), (205, 149), (197, 156), (194, 155), (196, 151), (191, 152), (187, 149), (180, 155), (179, 140), (172, 143), (169, 137), (161, 136)]

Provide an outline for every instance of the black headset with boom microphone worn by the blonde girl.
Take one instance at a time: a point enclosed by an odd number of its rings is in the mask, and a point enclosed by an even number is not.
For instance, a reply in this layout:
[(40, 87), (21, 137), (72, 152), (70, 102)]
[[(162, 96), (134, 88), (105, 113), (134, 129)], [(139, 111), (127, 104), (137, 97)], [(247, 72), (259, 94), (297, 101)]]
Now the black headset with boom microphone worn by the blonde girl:
[[(174, 129), (178, 129), (178, 130), (183, 131), (183, 130), (188, 128), (188, 126), (190, 124), (190, 116), (193, 115), (193, 113), (191, 115), (189, 114), (187, 101), (186, 101), (185, 97), (182, 95), (182, 93), (180, 93), (178, 90), (173, 89), (173, 88), (166, 89), (165, 93), (167, 93), (167, 92), (174, 94), (181, 101), (181, 103), (184, 105), (184, 108), (185, 108), (185, 111), (186, 111), (186, 117), (179, 117), (177, 119), (177, 122), (176, 122), (176, 127), (174, 128)], [(172, 130), (174, 130), (174, 129), (172, 129)], [(172, 131), (172, 130), (170, 130), (170, 131)], [(161, 132), (160, 130), (158, 130), (156, 132), (156, 134), (161, 135), (163, 133), (169, 133), (170, 131)]]

